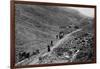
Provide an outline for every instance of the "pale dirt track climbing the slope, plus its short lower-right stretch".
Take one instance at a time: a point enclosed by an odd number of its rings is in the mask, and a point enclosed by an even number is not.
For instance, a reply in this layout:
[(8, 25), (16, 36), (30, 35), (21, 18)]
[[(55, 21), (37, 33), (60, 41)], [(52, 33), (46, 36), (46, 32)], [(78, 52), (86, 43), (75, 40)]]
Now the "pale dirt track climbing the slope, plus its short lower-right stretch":
[[(81, 31), (81, 30), (82, 30), (82, 29), (77, 29), (77, 30), (75, 30), (75, 31), (72, 31), (72, 32), (69, 33), (69, 34), (66, 34), (61, 40), (58, 40), (58, 41), (54, 44), (54, 46), (51, 48), (51, 51), (50, 51), (50, 52), (47, 52), (47, 50), (45, 49), (45, 50), (43, 50), (39, 55), (37, 55), (37, 56), (35, 56), (35, 57), (32, 56), (32, 57), (30, 57), (29, 60), (23, 60), (23, 61), (17, 63), (16, 65), (23, 65), (23, 63), (24, 63), (25, 65), (26, 65), (26, 64), (29, 64), (29, 65), (31, 65), (31, 64), (36, 64), (36, 63), (39, 61), (39, 60), (38, 60), (39, 57), (42, 57), (42, 56), (45, 56), (45, 55), (48, 55), (48, 54), (52, 53), (52, 52), (53, 52), (53, 49), (57, 48), (60, 44), (63, 44), (63, 42), (66, 41), (66, 40), (68, 40), (68, 38), (70, 38), (72, 34), (78, 32), (78, 31)], [(77, 52), (75, 53), (75, 55), (73, 56), (72, 60), (75, 58), (75, 56), (77, 55), (78, 52), (79, 52), (79, 51), (77, 51)], [(71, 60), (71, 61), (72, 61), (72, 60)]]

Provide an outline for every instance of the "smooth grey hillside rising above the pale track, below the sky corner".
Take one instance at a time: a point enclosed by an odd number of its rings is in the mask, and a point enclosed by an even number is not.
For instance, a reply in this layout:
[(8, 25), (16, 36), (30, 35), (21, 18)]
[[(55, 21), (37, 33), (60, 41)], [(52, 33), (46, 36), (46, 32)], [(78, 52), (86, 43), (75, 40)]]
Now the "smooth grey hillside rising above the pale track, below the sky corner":
[[(56, 35), (60, 31), (66, 35), (81, 28), (93, 37), (93, 18), (74, 9), (25, 4), (16, 4), (15, 7), (16, 63), (21, 61), (19, 52), (41, 52), (51, 40), (57, 41)], [(73, 36), (80, 38), (76, 33)]]

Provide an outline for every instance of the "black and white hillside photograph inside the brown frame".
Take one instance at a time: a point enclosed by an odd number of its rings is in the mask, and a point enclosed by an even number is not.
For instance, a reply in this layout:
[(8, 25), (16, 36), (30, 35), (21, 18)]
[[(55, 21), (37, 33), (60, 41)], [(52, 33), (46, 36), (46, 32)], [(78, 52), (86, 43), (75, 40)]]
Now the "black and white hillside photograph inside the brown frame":
[(95, 8), (15, 4), (15, 65), (95, 60)]

